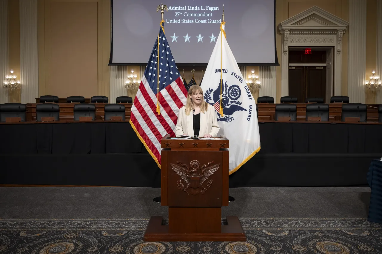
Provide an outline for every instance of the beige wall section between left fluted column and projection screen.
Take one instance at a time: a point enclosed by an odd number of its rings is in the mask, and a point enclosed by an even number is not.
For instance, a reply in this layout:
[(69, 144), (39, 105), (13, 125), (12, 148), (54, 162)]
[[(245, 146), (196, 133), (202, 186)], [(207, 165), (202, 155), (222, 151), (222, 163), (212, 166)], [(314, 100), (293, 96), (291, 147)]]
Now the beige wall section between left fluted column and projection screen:
[(110, 0), (39, 0), (39, 95), (109, 96)]

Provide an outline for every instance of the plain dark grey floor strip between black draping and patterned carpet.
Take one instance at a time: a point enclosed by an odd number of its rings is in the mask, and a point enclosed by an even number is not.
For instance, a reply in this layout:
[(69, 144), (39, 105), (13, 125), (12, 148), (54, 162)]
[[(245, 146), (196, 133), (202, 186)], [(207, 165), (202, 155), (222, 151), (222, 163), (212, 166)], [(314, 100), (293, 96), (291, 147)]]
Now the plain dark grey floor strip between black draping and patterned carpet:
[[(168, 217), (146, 187), (0, 187), (0, 218)], [(222, 218), (366, 218), (369, 187), (246, 187), (230, 189), (235, 201)]]

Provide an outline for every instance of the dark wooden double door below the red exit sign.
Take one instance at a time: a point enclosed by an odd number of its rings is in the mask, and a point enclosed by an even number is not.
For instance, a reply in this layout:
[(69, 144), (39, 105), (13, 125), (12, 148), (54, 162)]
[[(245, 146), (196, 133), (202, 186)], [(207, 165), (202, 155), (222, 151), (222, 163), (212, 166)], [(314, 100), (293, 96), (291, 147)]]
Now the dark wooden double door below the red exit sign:
[(298, 103), (306, 98), (324, 98), (326, 88), (326, 66), (290, 66), (288, 95), (297, 97)]

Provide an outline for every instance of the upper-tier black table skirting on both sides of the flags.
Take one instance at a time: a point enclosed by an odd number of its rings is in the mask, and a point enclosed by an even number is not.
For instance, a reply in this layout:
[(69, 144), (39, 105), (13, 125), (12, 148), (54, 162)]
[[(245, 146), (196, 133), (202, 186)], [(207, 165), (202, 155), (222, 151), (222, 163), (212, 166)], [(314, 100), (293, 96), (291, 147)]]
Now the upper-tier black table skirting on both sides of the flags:
[[(382, 125), (259, 124), (259, 153), (382, 153)], [(0, 154), (147, 153), (128, 122), (0, 125)]]

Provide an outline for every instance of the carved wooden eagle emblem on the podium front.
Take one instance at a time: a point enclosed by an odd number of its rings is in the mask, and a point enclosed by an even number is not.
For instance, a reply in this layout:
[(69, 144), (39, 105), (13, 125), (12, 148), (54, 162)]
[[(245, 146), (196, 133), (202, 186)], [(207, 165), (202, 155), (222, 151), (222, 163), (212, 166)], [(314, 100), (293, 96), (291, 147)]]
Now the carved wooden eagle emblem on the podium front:
[[(206, 186), (204, 186), (203, 183), (206, 182), (208, 178), (219, 169), (220, 166), (220, 163), (210, 166), (213, 163), (214, 161), (211, 161), (203, 166), (200, 166), (200, 163), (197, 160), (191, 161), (190, 166), (187, 166), (179, 161), (177, 161), (176, 164), (170, 163), (172, 170), (181, 177), (181, 179), (176, 181), (178, 189), (185, 191), (187, 195), (206, 193), (206, 190), (212, 185), (212, 179), (205, 183)], [(201, 171), (201, 174), (198, 170)], [(186, 183), (186, 186), (183, 184), (182, 180)], [(191, 190), (189, 190), (190, 188)]]

